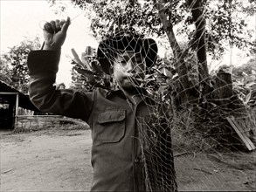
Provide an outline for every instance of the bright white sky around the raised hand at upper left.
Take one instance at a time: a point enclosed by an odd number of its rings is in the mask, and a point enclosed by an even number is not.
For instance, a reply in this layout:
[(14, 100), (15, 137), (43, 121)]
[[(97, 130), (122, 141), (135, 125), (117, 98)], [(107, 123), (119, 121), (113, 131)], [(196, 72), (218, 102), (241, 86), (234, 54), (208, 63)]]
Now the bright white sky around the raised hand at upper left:
[(71, 83), (72, 65), (66, 55), (73, 58), (71, 49), (73, 48), (80, 55), (90, 45), (94, 48), (98, 43), (92, 37), (89, 30), (90, 23), (84, 17), (83, 10), (75, 8), (69, 0), (63, 1), (70, 4), (66, 13), (56, 15), (56, 7), (50, 8), (46, 0), (0, 0), (1, 31), (0, 50), (8, 51), (8, 47), (18, 45), (24, 37), (39, 37), (43, 43), (42, 25), (45, 21), (54, 19), (66, 19), (71, 17), (72, 24), (67, 31), (66, 42), (62, 46), (62, 55), (57, 74), (57, 83), (64, 82), (66, 86)]

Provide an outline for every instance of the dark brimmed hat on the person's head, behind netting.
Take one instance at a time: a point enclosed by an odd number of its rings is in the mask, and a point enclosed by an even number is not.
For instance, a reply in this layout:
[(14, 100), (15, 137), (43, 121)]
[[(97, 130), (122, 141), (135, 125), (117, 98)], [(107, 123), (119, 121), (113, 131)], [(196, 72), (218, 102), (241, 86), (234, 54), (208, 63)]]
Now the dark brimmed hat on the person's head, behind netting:
[(146, 66), (151, 67), (156, 62), (158, 49), (156, 41), (152, 38), (119, 36), (101, 41), (98, 46), (97, 58), (104, 72), (113, 73), (111, 65), (113, 65), (115, 56), (122, 51), (140, 52), (145, 58)]

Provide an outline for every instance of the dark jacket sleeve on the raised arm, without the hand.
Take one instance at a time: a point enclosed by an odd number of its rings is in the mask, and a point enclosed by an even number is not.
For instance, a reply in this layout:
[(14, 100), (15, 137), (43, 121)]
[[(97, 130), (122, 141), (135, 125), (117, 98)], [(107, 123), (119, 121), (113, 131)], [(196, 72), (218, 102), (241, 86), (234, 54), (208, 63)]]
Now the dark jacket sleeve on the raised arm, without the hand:
[(27, 65), (30, 74), (29, 95), (32, 103), (45, 113), (88, 120), (93, 93), (71, 89), (57, 90), (53, 84), (58, 72), (60, 51), (31, 51)]

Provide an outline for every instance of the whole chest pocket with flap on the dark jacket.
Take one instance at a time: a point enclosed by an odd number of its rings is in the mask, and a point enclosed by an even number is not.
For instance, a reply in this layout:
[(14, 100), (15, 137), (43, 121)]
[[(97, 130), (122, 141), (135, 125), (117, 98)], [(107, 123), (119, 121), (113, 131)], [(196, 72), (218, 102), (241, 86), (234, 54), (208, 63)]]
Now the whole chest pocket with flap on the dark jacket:
[(99, 113), (99, 139), (101, 142), (119, 142), (125, 134), (125, 111)]

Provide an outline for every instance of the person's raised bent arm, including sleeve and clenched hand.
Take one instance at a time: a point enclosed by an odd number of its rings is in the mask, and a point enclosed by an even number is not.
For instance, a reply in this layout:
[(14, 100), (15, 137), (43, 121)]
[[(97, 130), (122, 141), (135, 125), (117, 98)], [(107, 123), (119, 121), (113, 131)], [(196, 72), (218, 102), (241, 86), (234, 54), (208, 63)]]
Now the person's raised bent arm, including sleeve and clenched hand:
[(27, 60), (31, 83), (31, 101), (39, 110), (88, 120), (93, 107), (93, 93), (71, 89), (57, 90), (53, 84), (59, 67), (61, 46), (65, 42), (70, 19), (45, 24), (43, 50), (31, 51)]

